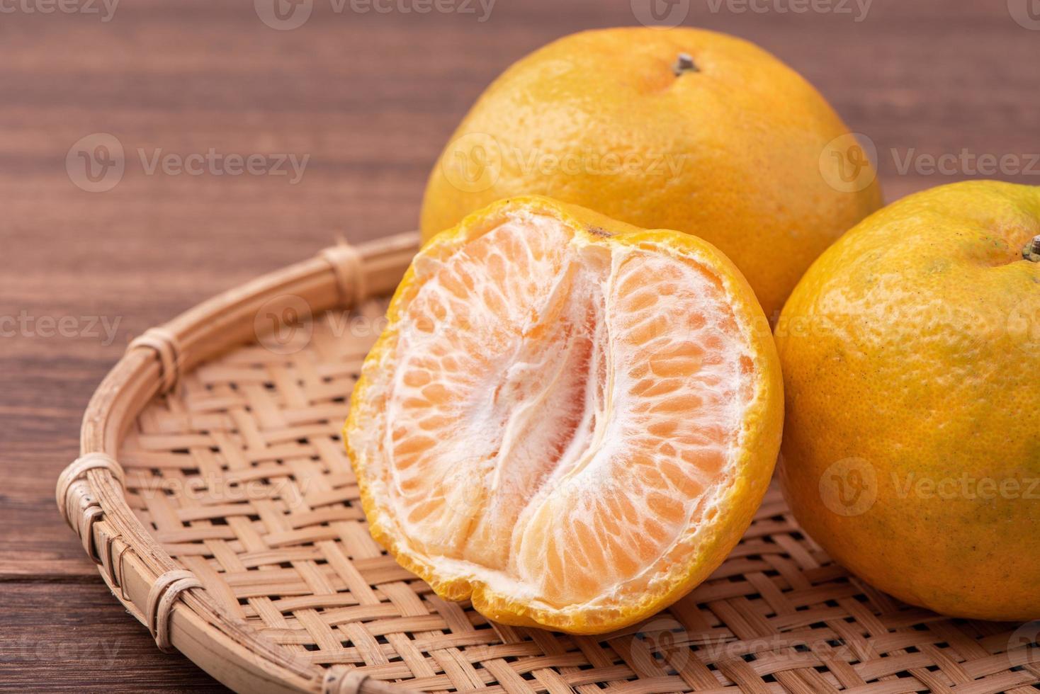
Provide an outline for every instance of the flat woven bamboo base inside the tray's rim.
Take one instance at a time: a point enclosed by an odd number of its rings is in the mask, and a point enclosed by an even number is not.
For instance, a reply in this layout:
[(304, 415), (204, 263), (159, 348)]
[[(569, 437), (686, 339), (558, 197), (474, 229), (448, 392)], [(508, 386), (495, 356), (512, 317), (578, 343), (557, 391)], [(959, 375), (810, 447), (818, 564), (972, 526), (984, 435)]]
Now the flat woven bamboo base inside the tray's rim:
[(292, 659), (335, 668), (327, 680), (485, 694), (1040, 690), (1040, 622), (950, 620), (870, 589), (799, 531), (776, 489), (709, 581), (615, 634), (504, 626), (440, 599), (369, 537), (339, 437), (385, 306), (328, 312), (180, 374), (118, 456), (127, 504), (162, 548)]

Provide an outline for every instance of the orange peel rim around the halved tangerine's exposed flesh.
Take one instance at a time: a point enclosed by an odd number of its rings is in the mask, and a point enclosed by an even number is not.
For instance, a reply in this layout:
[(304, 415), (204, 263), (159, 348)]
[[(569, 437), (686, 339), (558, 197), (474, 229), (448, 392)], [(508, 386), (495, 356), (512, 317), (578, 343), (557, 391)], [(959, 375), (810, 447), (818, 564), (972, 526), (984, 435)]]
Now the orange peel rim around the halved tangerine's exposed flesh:
[[(690, 548), (685, 561), (669, 566), (653, 590), (628, 596), (603, 610), (539, 608), (513, 595), (498, 592), (483, 582), (445, 579), (434, 563), (413, 551), (407, 538), (394, 531), (395, 523), (393, 518), (387, 517), (383, 500), (372, 495), (369, 481), (371, 461), (355, 450), (350, 442), (354, 432), (364, 431), (371, 426), (373, 412), (363, 404), (370, 400), (366, 397), (366, 391), (371, 386), (373, 370), (385, 363), (384, 356), (395, 340), (398, 323), (405, 314), (406, 297), (415, 284), (415, 262), (405, 273), (390, 301), (387, 327), (365, 358), (361, 377), (355, 384), (350, 397), (350, 412), (343, 425), (343, 442), (358, 479), (361, 503), (372, 537), (386, 548), (398, 564), (428, 583), (438, 595), (452, 600), (470, 599), (477, 612), (503, 624), (548, 628), (572, 634), (604, 634), (634, 623), (688, 593), (707, 579), (739, 542), (765, 495), (780, 449), (783, 427), (780, 365), (769, 323), (740, 271), (718, 248), (688, 234), (669, 230), (642, 230), (575, 205), (538, 195), (525, 195), (499, 201), (467, 216), (452, 229), (437, 235), (416, 258), (442, 257), (467, 240), (501, 223), (509, 212), (521, 210), (551, 215), (579, 230), (579, 233), (601, 236), (606, 232), (612, 235), (612, 242), (618, 244), (638, 246), (650, 242), (671, 247), (698, 258), (719, 273), (720, 282), (732, 301), (731, 308), (746, 327), (744, 337), (748, 340), (755, 368), (761, 376), (757, 394), (746, 410), (739, 432), (744, 446), (734, 462), (736, 474), (720, 502), (720, 508), (725, 511), (710, 519), (710, 528), (702, 536), (702, 541)], [(688, 534), (693, 534), (693, 531), (691, 529)]]

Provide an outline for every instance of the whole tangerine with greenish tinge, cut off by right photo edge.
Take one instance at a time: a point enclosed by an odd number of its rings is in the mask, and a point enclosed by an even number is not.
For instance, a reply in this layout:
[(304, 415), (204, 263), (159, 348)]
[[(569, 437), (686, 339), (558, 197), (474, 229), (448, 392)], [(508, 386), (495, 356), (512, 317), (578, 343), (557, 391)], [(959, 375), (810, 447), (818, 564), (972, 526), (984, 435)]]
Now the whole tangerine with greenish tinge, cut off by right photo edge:
[(776, 328), (799, 522), (937, 612), (1040, 617), (1040, 188), (947, 185), (870, 216)]

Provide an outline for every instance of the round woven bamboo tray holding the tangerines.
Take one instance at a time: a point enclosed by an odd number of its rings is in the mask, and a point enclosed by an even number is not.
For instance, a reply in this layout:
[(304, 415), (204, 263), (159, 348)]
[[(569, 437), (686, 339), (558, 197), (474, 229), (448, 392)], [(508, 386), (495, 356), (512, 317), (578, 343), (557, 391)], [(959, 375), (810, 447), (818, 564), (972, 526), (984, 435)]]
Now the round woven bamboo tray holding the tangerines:
[(614, 634), (438, 598), (369, 537), (339, 437), (417, 246), (337, 246), (217, 296), (131, 343), (98, 389), (57, 503), (160, 648), (239, 692), (1040, 689), (1040, 622), (900, 604), (833, 564), (776, 489), (707, 582)]

